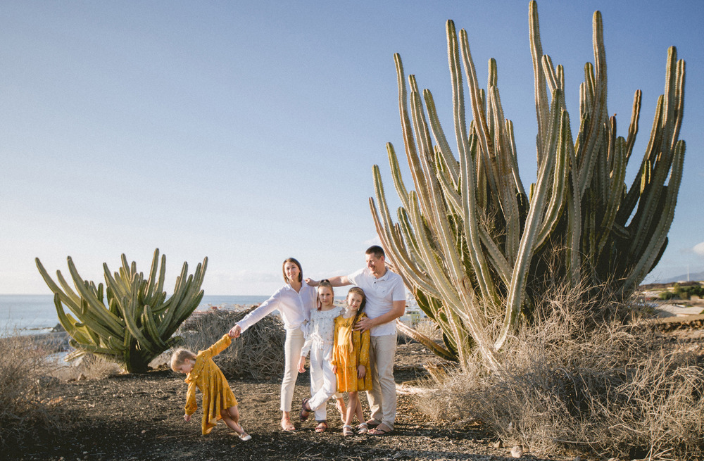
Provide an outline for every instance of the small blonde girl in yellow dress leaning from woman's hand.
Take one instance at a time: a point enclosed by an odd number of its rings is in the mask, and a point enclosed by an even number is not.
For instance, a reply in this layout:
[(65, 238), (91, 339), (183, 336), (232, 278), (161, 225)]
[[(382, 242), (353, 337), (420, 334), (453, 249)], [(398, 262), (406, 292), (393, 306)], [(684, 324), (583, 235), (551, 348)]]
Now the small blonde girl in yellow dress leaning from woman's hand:
[(222, 371), (213, 362), (213, 357), (230, 346), (232, 339), (227, 334), (206, 351), (199, 351), (196, 355), (188, 349), (177, 349), (171, 356), (171, 369), (175, 372), (186, 373), (185, 381), (188, 384), (186, 393), (186, 414), (184, 419), (189, 422), (191, 415), (196, 412), (196, 388), (203, 393), (203, 421), (201, 429), (203, 435), (210, 434), (218, 419), (222, 419), (239, 438), (244, 441), (251, 440), (239, 425), (239, 411), (237, 399), (234, 398), (230, 385)]

